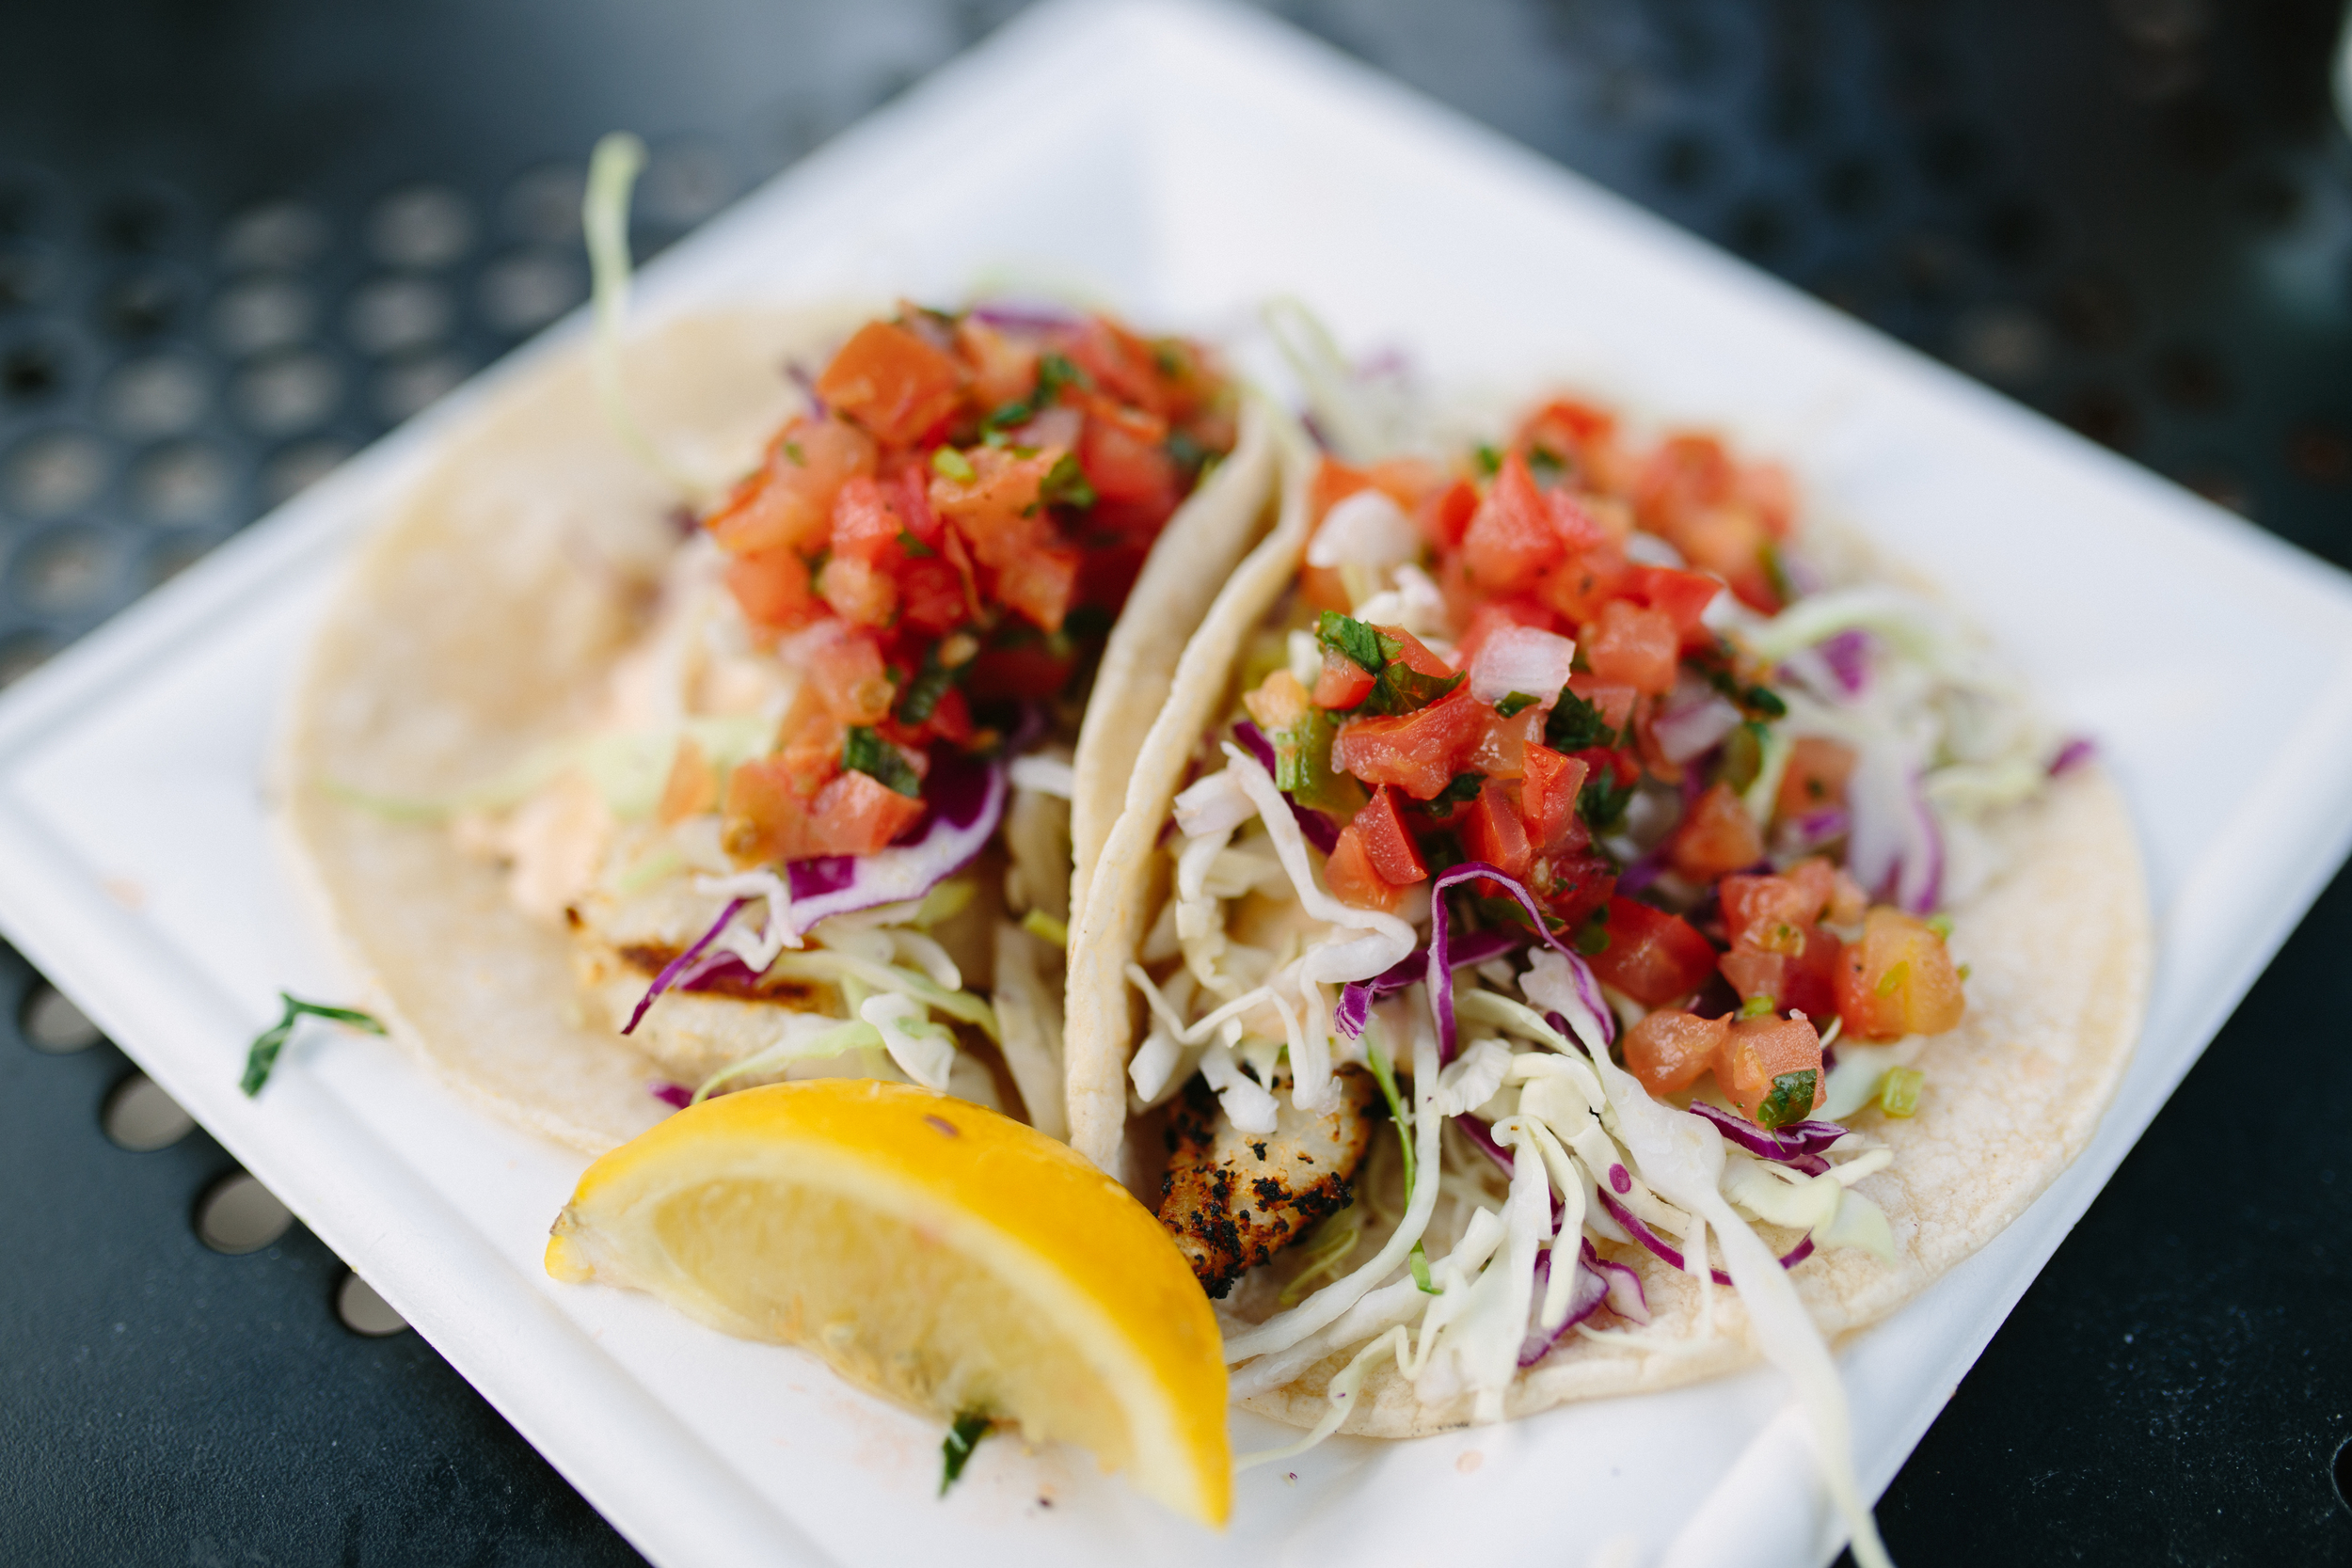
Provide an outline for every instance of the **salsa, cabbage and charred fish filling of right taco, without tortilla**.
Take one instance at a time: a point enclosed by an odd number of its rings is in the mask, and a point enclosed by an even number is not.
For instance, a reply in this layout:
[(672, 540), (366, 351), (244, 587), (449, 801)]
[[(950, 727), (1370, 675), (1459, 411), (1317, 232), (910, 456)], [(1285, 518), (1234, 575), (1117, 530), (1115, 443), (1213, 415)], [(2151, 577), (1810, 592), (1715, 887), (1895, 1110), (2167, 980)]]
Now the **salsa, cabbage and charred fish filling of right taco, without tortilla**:
[(1451, 463), (1324, 456), (1308, 517), (1124, 966), (1127, 1112), (1237, 1399), (1317, 1371), (1322, 1436), (1392, 1361), (1498, 1420), (1588, 1335), (1672, 1349), (1661, 1269), (1818, 1387), (1783, 1269), (1893, 1262), (1856, 1182), (1936, 1093), (1945, 910), (2056, 736), (1708, 435), (1550, 402)]

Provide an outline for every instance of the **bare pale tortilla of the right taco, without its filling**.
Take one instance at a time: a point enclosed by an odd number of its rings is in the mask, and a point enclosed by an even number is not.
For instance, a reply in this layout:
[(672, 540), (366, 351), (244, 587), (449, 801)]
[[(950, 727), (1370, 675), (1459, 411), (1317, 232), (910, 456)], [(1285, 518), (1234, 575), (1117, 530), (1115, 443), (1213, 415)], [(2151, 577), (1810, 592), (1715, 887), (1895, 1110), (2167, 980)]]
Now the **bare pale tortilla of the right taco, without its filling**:
[[(1127, 1065), (1143, 1011), (1127, 969), (1167, 891), (1167, 856), (1157, 849), (1185, 764), (1200, 755), (1209, 726), (1235, 708), (1244, 646), (1303, 567), (1312, 468), (1312, 451), (1289, 437), (1282, 520), (1223, 583), (1183, 651), (1176, 691), (1141, 743), (1127, 809), (1073, 926), (1070, 1138), (1131, 1185), (1141, 1185), (1145, 1161), (1127, 1140)], [(1964, 1023), (1924, 1041), (1917, 1065), (1929, 1088), (1915, 1117), (1863, 1110), (1846, 1119), (1896, 1154), (1891, 1168), (1856, 1185), (1886, 1213), (1896, 1262), (1889, 1267), (1846, 1248), (1818, 1253), (1792, 1274), (1832, 1342), (1912, 1300), (2023, 1213), (2089, 1145), (2140, 1034), (2150, 973), (2147, 891), (2129, 811), (2112, 780), (2096, 766), (2070, 769), (2032, 802), (1994, 818), (1990, 837), (2006, 870), (1945, 910), (1950, 947), (1973, 966)], [(1376, 1152), (1383, 1143), (1376, 1140)], [(1371, 1173), (1367, 1166), (1367, 1180), (1376, 1180)], [(1395, 1180), (1392, 1168), (1385, 1175)], [(1390, 1194), (1390, 1213), (1397, 1206)], [(1378, 1234), (1367, 1234), (1355, 1260), (1376, 1251), (1390, 1225), (1367, 1220), (1367, 1232)], [(1799, 1234), (1771, 1225), (1757, 1232), (1783, 1253)], [(1759, 1359), (1733, 1291), (1703, 1291), (1691, 1274), (1642, 1248), (1618, 1246), (1616, 1260), (1642, 1274), (1651, 1324), (1597, 1338), (1571, 1333), (1517, 1373), (1508, 1415), (1696, 1382)], [(1355, 1349), (1352, 1342), (1308, 1340), (1242, 1363), (1235, 1396), (1261, 1415), (1312, 1427), (1329, 1413), (1327, 1387)], [(1383, 1356), (1371, 1363), (1341, 1432), (1444, 1432), (1470, 1422), (1470, 1403), (1468, 1392), (1423, 1403)]]

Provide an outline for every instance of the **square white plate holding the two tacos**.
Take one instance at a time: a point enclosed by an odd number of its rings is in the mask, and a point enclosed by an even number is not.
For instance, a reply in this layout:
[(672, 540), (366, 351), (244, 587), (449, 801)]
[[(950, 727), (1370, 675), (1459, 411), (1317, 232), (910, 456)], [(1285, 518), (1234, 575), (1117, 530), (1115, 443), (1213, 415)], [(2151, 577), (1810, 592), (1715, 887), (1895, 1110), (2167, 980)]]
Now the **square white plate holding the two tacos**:
[[(1054, 5), (652, 268), (642, 308), (1007, 273), (1218, 329), (1275, 292), (1449, 381), (1581, 378), (1792, 456), (2093, 733), (2157, 905), (2147, 1037), (2091, 1150), (1844, 1354), (1877, 1495), (2300, 917), (2352, 835), (2352, 590), (2326, 567), (1275, 24)], [(576, 329), (576, 324), (572, 327)], [(661, 1563), (1357, 1568), (1828, 1559), (1769, 1373), (1242, 1476), (1223, 1544), (1070, 1453), (938, 1432), (640, 1295), (539, 1267), (581, 1159), (381, 1041), (245, 1044), (280, 985), (355, 992), (299, 914), (261, 764), (353, 538), (477, 390), (350, 463), (0, 703), (0, 924)], [(2089, 590), (2096, 585), (2096, 590)], [(2281, 677), (2281, 672), (2291, 672)], [(2225, 745), (2190, 738), (2227, 736)], [(1272, 1429), (1237, 1418), (1242, 1448)], [(1494, 1561), (1494, 1559), (1489, 1559)], [(1505, 1559), (1508, 1561), (1508, 1559)]]

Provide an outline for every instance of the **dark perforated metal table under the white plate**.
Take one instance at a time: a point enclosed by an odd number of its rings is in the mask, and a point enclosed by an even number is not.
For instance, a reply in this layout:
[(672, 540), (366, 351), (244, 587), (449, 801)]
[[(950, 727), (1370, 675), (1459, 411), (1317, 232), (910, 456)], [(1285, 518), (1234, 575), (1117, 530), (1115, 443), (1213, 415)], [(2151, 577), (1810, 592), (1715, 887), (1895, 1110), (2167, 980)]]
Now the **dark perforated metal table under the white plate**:
[[(654, 252), (1016, 9), (9, 7), (0, 682), (579, 303), (600, 132)], [(2352, 564), (2331, 2), (1272, 9)], [(1886, 1493), (1898, 1561), (2352, 1561), (2347, 945), (2338, 877)], [(0, 1561), (637, 1561), (282, 1225), (0, 950)]]

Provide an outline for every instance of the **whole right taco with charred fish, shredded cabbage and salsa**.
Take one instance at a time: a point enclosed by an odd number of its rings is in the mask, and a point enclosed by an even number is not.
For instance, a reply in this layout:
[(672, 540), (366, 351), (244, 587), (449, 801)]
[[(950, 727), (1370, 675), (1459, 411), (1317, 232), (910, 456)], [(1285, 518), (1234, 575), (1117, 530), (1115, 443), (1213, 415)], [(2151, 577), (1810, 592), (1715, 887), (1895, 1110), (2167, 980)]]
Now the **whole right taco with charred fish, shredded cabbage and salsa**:
[(1073, 1143), (1308, 1441), (1762, 1354), (1867, 1535), (1828, 1342), (2089, 1143), (2150, 961), (2122, 799), (1776, 463), (1569, 397), (1378, 428), (1289, 437), (1143, 741)]

